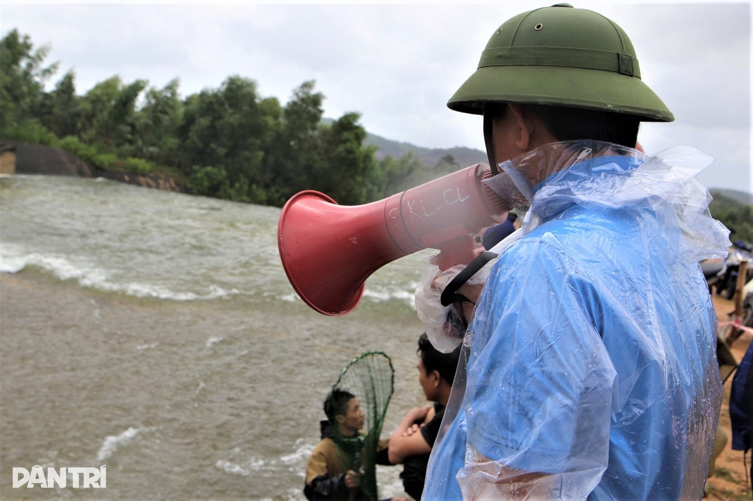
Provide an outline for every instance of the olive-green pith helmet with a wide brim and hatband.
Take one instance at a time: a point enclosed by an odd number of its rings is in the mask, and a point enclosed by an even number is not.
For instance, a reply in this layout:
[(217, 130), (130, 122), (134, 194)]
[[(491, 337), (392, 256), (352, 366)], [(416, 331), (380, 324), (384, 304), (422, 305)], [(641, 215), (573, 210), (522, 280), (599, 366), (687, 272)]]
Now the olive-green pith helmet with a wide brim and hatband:
[(558, 4), (508, 20), (489, 39), (478, 69), (447, 106), (483, 114), (485, 102), (569, 106), (671, 122), (641, 80), (636, 51), (601, 14)]

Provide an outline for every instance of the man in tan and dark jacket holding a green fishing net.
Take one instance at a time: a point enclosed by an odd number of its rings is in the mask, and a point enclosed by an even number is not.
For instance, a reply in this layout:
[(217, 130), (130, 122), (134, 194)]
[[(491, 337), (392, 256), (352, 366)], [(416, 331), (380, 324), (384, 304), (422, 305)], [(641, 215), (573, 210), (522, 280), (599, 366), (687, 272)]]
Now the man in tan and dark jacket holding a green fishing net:
[(382, 352), (364, 353), (340, 373), (325, 398), (322, 440), (306, 465), (306, 499), (378, 501), (376, 466), (391, 464), (389, 439), (380, 439), (380, 433), (394, 376)]

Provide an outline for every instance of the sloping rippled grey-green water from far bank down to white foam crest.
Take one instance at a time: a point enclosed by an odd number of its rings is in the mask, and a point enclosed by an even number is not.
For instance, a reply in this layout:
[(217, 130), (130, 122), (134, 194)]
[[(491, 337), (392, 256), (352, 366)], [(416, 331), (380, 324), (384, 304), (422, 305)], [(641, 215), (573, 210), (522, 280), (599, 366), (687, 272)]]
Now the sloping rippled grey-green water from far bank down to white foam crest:
[[(0, 189), (0, 272), (31, 267), (139, 298), (297, 300), (277, 250), (279, 208), (81, 178), (8, 177)], [(378, 270), (364, 301), (412, 308), (415, 279), (435, 252)]]

